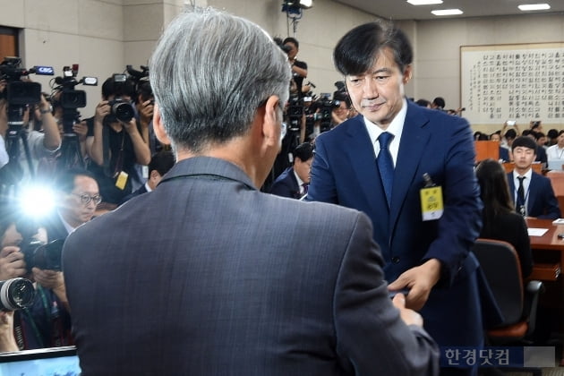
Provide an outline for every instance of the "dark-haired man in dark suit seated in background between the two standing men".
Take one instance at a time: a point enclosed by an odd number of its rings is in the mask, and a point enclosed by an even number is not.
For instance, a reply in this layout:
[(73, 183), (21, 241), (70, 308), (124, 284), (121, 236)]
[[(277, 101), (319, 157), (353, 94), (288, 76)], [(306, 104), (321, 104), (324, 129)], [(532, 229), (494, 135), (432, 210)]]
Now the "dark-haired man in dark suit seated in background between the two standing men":
[(300, 199), (307, 193), (310, 184), (310, 171), (312, 170), (313, 147), (309, 142), (298, 145), (294, 153), (294, 164), (292, 167), (280, 174), (272, 187), (270, 193), (277, 196)]

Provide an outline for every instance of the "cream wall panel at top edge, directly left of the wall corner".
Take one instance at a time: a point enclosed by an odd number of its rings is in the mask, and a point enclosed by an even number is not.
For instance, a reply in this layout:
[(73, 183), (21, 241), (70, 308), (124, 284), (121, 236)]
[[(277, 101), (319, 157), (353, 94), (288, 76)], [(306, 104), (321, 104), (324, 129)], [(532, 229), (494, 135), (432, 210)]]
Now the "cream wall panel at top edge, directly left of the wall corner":
[(80, 0), (78, 18), (81, 35), (124, 40), (124, 10), (120, 5)]

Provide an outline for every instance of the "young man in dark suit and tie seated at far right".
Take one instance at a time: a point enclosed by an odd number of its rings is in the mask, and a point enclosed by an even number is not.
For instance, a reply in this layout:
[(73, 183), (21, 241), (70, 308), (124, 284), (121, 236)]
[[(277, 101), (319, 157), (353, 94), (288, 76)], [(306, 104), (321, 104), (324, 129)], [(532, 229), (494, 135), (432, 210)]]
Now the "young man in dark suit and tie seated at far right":
[(515, 169), (508, 174), (509, 191), (517, 212), (523, 217), (560, 218), (558, 200), (551, 179), (533, 171), (536, 142), (528, 137), (517, 137), (511, 145)]

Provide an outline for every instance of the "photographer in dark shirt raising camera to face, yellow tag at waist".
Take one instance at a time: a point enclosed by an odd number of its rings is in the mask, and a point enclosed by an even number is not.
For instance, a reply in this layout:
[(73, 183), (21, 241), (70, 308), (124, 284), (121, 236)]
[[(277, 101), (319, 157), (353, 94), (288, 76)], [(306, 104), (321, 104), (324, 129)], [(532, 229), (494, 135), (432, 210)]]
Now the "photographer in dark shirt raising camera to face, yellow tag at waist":
[(135, 163), (150, 162), (149, 143), (141, 136), (132, 102), (135, 95), (135, 83), (124, 74), (114, 74), (102, 85), (103, 100), (88, 122), (88, 136), (92, 138), (90, 158), (95, 162), (90, 170), (96, 176), (107, 209), (114, 209), (132, 192), (133, 177), (141, 185)]

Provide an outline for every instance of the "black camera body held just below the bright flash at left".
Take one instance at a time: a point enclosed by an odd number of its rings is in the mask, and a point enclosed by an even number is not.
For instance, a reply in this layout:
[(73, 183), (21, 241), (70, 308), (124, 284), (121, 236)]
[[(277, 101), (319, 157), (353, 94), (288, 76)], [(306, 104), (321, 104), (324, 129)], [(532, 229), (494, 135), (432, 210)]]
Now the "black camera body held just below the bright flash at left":
[(63, 244), (64, 239), (57, 239), (48, 244), (43, 244), (37, 240), (30, 240), (21, 244), (20, 250), (23, 253), (23, 261), (25, 261), (28, 271), (31, 271), (34, 267), (61, 271), (63, 269), (61, 262)]

